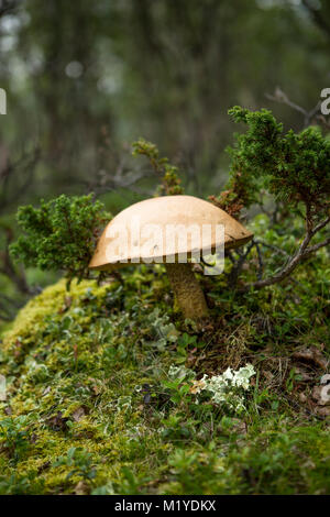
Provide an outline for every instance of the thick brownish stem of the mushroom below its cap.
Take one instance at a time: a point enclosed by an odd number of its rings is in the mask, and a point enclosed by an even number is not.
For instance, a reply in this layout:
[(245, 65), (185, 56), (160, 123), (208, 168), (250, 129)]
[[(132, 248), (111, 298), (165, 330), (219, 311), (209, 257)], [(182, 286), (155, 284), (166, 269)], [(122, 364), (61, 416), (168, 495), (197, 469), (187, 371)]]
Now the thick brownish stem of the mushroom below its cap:
[(168, 264), (166, 272), (185, 318), (208, 317), (208, 306), (190, 264)]

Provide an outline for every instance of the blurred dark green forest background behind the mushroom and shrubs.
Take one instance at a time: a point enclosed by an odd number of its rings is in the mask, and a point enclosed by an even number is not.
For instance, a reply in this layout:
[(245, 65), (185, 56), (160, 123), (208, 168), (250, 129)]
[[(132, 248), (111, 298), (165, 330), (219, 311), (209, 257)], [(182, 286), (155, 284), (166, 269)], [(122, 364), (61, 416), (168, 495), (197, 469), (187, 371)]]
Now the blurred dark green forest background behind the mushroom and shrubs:
[(217, 195), (228, 109), (312, 122), (299, 107), (330, 86), (329, 43), (327, 0), (0, 1), (0, 323), (54, 279), (11, 262), (18, 206), (95, 191), (116, 213), (148, 197), (157, 178), (130, 152), (140, 136), (188, 194)]

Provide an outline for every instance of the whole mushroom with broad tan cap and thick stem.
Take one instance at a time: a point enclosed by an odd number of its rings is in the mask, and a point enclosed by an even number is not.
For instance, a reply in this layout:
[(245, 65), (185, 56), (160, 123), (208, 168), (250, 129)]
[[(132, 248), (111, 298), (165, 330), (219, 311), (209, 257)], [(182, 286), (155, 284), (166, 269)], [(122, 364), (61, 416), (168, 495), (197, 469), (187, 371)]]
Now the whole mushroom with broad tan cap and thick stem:
[[(222, 233), (217, 232), (222, 228)], [(200, 231), (208, 229), (200, 239)], [(125, 264), (165, 263), (185, 318), (208, 316), (202, 289), (188, 262), (217, 246), (238, 248), (253, 234), (215, 205), (193, 196), (164, 196), (136, 202), (118, 213), (101, 234), (92, 270)]]

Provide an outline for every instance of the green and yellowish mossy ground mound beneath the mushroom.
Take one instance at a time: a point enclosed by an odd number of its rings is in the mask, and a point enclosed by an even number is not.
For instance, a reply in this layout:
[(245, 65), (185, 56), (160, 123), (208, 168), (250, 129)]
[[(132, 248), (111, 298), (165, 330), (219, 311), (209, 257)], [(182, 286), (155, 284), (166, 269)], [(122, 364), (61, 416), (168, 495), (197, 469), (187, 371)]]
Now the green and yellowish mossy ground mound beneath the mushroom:
[[(212, 279), (210, 330), (169, 309), (162, 266), (46, 288), (2, 339), (0, 493), (329, 493), (329, 419), (290, 398), (300, 384), (288, 362), (275, 382), (293, 348), (324, 346), (326, 271), (321, 257), (298, 284), (245, 298)], [(257, 370), (244, 414), (197, 405), (168, 381), (170, 366), (221, 372), (221, 358)]]

